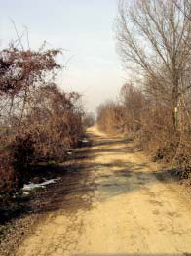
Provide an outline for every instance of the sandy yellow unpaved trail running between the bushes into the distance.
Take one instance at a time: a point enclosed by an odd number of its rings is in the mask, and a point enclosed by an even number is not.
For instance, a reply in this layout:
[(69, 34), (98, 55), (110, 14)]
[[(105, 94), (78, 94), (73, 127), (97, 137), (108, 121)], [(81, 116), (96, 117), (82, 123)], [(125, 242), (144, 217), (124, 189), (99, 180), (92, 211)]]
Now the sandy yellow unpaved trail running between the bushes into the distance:
[(191, 207), (172, 181), (158, 179), (156, 165), (131, 142), (96, 127), (89, 132), (94, 145), (81, 160), (86, 183), (67, 195), (67, 209), (47, 214), (16, 255), (191, 255)]

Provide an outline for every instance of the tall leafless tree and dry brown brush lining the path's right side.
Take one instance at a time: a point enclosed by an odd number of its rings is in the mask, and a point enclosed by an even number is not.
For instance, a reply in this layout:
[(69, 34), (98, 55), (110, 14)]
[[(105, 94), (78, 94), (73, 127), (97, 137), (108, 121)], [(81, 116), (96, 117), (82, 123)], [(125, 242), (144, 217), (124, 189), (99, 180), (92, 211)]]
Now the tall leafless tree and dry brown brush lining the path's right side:
[(130, 79), (97, 108), (98, 126), (191, 178), (190, 0), (119, 1), (116, 39)]

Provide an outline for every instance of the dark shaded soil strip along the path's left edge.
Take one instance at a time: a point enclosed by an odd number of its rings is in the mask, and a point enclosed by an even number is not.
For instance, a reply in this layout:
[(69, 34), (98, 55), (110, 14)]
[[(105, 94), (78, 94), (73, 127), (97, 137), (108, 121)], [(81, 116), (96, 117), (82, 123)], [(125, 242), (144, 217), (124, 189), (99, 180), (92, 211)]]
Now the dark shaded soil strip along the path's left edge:
[(64, 163), (41, 164), (34, 168), (31, 182), (39, 183), (43, 179), (53, 178), (59, 180), (44, 189), (30, 192), (29, 195), (20, 195), (19, 202), (14, 206), (17, 209), (5, 210), (0, 220), (1, 256), (15, 255), (15, 248), (26, 235), (33, 232), (38, 222), (42, 222), (47, 213), (66, 207), (64, 197), (68, 193), (80, 191), (79, 188), (86, 184), (88, 175), (86, 163), (82, 166), (82, 159), (88, 157), (88, 152), (89, 148), (81, 148)]

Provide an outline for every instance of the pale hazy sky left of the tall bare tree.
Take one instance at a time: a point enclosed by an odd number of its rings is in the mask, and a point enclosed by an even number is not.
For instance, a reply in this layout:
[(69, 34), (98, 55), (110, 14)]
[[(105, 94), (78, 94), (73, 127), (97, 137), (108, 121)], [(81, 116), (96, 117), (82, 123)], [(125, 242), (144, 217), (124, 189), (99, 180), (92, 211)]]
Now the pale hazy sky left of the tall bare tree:
[(86, 108), (95, 110), (109, 98), (115, 99), (125, 74), (115, 52), (114, 21), (117, 0), (0, 0), (0, 47), (16, 38), (27, 26), (31, 47), (44, 40), (50, 47), (66, 49), (66, 70), (59, 76), (65, 90), (84, 95)]

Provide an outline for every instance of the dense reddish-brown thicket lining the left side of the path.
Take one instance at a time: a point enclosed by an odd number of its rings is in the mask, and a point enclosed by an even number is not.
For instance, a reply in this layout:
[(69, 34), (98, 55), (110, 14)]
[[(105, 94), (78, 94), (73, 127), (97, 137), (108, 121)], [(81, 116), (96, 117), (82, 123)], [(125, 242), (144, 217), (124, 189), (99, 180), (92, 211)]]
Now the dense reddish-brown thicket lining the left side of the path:
[(58, 54), (14, 46), (0, 51), (0, 199), (19, 191), (32, 164), (64, 160), (83, 136), (80, 95), (54, 82)]

